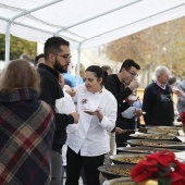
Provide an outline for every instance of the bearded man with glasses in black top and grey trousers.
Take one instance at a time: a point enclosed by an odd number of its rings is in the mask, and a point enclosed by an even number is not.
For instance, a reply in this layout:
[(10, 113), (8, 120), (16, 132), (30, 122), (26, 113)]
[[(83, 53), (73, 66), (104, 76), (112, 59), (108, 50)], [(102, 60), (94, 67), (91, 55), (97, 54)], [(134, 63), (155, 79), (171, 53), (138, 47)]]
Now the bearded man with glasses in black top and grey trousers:
[(55, 132), (51, 151), (51, 184), (61, 184), (62, 174), (62, 146), (66, 140), (66, 126), (78, 122), (78, 113), (60, 114), (55, 108), (55, 100), (62, 98), (63, 91), (59, 84), (60, 73), (64, 73), (71, 62), (69, 41), (61, 37), (51, 37), (45, 44), (45, 64), (38, 66), (41, 78), (41, 94), (39, 99), (52, 108), (55, 119)]

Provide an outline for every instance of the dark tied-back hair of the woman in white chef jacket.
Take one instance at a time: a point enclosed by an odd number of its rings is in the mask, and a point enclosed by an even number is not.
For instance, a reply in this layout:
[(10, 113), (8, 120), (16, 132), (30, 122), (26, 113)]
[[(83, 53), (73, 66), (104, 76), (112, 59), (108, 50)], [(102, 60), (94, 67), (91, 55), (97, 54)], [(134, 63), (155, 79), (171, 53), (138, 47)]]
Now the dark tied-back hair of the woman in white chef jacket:
[(97, 78), (102, 77), (102, 84), (106, 83), (106, 78), (108, 76), (108, 73), (103, 71), (99, 65), (90, 65), (86, 69), (85, 72), (94, 72)]

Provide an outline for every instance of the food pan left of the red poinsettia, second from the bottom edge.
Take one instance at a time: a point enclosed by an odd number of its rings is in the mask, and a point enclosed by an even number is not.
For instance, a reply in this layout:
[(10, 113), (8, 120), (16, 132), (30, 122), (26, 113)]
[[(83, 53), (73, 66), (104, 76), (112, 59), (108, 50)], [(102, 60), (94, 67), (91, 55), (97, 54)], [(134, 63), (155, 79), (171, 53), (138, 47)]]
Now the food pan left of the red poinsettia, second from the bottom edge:
[[(131, 177), (131, 171), (135, 166), (135, 164), (114, 164), (114, 165), (101, 165), (98, 168), (98, 171), (108, 178), (116, 178), (116, 177)], [(127, 172), (127, 173), (121, 173)]]

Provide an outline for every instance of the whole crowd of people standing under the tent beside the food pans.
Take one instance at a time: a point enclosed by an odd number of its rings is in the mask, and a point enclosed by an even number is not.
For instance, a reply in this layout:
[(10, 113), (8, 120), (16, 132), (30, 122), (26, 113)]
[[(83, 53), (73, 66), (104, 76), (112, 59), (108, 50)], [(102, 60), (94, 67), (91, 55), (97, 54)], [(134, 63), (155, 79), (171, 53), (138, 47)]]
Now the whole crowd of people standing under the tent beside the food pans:
[(77, 185), (79, 176), (100, 185), (98, 166), (111, 163), (115, 144), (126, 146), (139, 116), (146, 125), (173, 125), (172, 94), (178, 114), (184, 111), (185, 81), (171, 86), (166, 66), (157, 66), (141, 106), (134, 60), (126, 59), (116, 74), (109, 65), (81, 65), (78, 78), (70, 63), (70, 42), (51, 37), (34, 66), (22, 54), (1, 74), (0, 184), (62, 185), (65, 172), (65, 185)]

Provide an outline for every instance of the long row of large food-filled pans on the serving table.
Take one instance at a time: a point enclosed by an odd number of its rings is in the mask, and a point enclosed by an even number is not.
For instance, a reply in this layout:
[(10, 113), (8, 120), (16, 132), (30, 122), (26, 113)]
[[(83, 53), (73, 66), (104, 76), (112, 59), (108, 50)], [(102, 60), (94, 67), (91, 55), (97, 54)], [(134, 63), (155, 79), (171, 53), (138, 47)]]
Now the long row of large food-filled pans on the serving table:
[(132, 169), (153, 152), (172, 151), (177, 160), (185, 162), (185, 134), (180, 123), (177, 126), (149, 126), (143, 132), (131, 134), (134, 139), (127, 140), (128, 147), (116, 148), (119, 155), (110, 156), (112, 165), (98, 168), (107, 178), (103, 185), (134, 185)]

